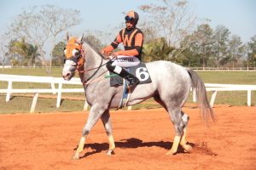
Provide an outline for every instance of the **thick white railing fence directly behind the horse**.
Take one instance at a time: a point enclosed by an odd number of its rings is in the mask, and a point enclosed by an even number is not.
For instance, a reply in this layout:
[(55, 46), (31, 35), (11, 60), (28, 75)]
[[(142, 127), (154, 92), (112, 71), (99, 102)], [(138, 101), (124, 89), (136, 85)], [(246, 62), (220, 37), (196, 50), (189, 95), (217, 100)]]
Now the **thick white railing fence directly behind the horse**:
[[(8, 87), (0, 89), (0, 94), (6, 94), (6, 102), (9, 102), (11, 94), (34, 94), (32, 99), (32, 106), (30, 112), (34, 112), (38, 94), (57, 94), (56, 108), (61, 106), (61, 93), (84, 93), (84, 88), (62, 88), (62, 84), (82, 85), (79, 78), (73, 78), (70, 81), (63, 80), (62, 77), (31, 77), (31, 76), (16, 76), (16, 75), (4, 75), (0, 74), (0, 82), (8, 82)], [(14, 89), (13, 82), (40, 82), (49, 83), (51, 88), (26, 88), (26, 89)], [(55, 84), (58, 84), (58, 88), (55, 88)], [(212, 92), (210, 104), (213, 106), (218, 91), (247, 91), (247, 106), (252, 105), (252, 91), (256, 90), (256, 85), (235, 85), (235, 84), (214, 84), (205, 83), (207, 91)], [(196, 101), (195, 93), (193, 93), (193, 101)], [(88, 104), (85, 100), (84, 111), (87, 111)], [(131, 106), (128, 107), (131, 110)]]

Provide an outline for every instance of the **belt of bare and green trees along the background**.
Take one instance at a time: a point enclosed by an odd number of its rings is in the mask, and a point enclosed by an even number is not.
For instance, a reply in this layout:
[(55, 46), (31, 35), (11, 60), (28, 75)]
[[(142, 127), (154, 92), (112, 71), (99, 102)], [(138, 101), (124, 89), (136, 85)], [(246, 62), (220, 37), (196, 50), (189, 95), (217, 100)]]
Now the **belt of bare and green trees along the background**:
[[(146, 16), (139, 22), (144, 33), (143, 61), (165, 59), (190, 67), (256, 66), (256, 36), (245, 46), (241, 37), (230, 37), (231, 32), (225, 26), (212, 29), (207, 22), (198, 26), (195, 15), (189, 13), (186, 0), (159, 0), (139, 8)], [(65, 42), (60, 41), (60, 37), (78, 25), (80, 18), (78, 10), (52, 5), (23, 10), (11, 22), (7, 32), (9, 37), (0, 38), (3, 40), (0, 42), (2, 63), (10, 60), (12, 65), (39, 65), (40, 60), (45, 68), (46, 65), (62, 65)], [(109, 43), (115, 30), (109, 27), (104, 31), (88, 30), (86, 40), (101, 49)], [(23, 37), (26, 38), (26, 48), (22, 47)], [(7, 45), (3, 42), (9, 42), (13, 47), (4, 50)], [(46, 53), (46, 50), (50, 51)], [(50, 54), (49, 60), (46, 54)]]

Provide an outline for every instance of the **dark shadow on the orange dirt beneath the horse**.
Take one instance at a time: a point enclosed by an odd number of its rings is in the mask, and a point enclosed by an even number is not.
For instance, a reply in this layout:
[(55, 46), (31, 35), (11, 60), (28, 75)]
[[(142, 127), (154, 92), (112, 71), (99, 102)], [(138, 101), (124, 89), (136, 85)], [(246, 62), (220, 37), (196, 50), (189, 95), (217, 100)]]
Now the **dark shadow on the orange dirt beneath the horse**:
[[(153, 147), (157, 146), (160, 148), (164, 148), (166, 150), (170, 150), (172, 146), (172, 142), (164, 142), (164, 141), (158, 141), (158, 142), (143, 142), (141, 139), (131, 138), (131, 139), (121, 139), (118, 142), (114, 143), (116, 147), (118, 148), (141, 148), (141, 147)], [(189, 143), (192, 147), (195, 146), (193, 143)], [(78, 146), (77, 146), (78, 147)], [(77, 147), (74, 149), (76, 150)], [(81, 156), (80, 158), (84, 158), (87, 156), (94, 155), (96, 153), (102, 152), (103, 150), (108, 150), (108, 143), (94, 143), (94, 144), (84, 144), (84, 149), (90, 148), (93, 151), (86, 152), (84, 156)], [(183, 148), (181, 146), (178, 146), (177, 153), (186, 153), (184, 152)]]

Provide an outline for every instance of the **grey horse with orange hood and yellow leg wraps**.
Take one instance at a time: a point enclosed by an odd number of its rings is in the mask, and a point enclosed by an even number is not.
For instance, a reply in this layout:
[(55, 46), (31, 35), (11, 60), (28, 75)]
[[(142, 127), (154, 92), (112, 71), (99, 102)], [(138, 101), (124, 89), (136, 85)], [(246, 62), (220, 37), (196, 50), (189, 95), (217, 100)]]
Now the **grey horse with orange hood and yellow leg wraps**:
[[(109, 109), (119, 107), (119, 101), (123, 94), (123, 87), (110, 87), (109, 78), (104, 78), (108, 74), (106, 68), (108, 59), (104, 59), (102, 54), (97, 52), (89, 42), (83, 40), (83, 37), (69, 37), (67, 34), (66, 62), (62, 70), (62, 77), (65, 80), (70, 80), (75, 71), (79, 71), (81, 81), (84, 83), (87, 103), (91, 106), (73, 159), (79, 159), (79, 154), (84, 150), (86, 137), (99, 119), (102, 120), (108, 134), (107, 154), (112, 155), (115, 144)], [(146, 66), (152, 82), (138, 85), (131, 92), (127, 105), (136, 105), (153, 97), (166, 109), (175, 129), (172, 148), (167, 151), (166, 155), (176, 154), (178, 144), (189, 152), (192, 149), (186, 142), (189, 116), (182, 111), (182, 107), (189, 97), (190, 89), (196, 94), (203, 120), (207, 121), (208, 116), (212, 116), (212, 120), (215, 120), (214, 112), (207, 100), (204, 83), (195, 71), (169, 61), (149, 62), (146, 63)]]

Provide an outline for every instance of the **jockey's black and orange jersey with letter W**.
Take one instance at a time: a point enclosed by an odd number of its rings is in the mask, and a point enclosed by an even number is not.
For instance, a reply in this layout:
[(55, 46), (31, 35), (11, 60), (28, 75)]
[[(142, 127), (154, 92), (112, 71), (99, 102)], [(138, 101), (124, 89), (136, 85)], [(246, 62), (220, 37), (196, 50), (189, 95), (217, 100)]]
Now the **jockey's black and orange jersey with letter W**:
[(143, 31), (136, 27), (131, 30), (124, 28), (119, 31), (118, 36), (114, 39), (111, 45), (113, 48), (117, 48), (120, 42), (123, 42), (125, 50), (137, 50), (138, 54), (135, 56), (141, 60), (143, 52)]

